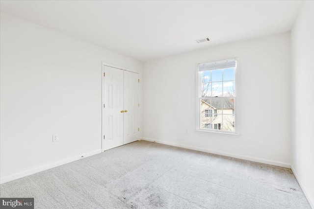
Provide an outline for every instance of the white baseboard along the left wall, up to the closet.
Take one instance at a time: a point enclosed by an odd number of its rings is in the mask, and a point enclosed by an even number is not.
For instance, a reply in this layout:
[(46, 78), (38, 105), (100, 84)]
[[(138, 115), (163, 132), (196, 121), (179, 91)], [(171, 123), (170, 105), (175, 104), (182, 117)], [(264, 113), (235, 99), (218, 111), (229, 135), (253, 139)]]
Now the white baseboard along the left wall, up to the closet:
[(36, 167), (36, 168), (32, 168), (32, 169), (29, 169), (29, 170), (26, 170), (26, 171), (23, 171), (23, 172), (20, 172), (20, 173), (16, 173), (16, 174), (13, 174), (13, 175), (10, 175), (10, 176), (1, 177), (0, 178), (0, 184), (6, 183), (6, 182), (10, 182), (10, 181), (13, 181), (13, 180), (16, 180), (16, 179), (20, 179), (22, 177), (29, 176), (31, 174), (38, 173), (38, 172), (41, 172), (41, 171), (44, 171), (44, 170), (48, 170), (50, 168), (53, 168), (53, 167), (56, 167), (56, 166), (59, 166), (59, 165), (63, 165), (63, 164), (66, 164), (66, 163), (71, 163), (73, 161), (77, 161), (79, 159), (82, 159), (82, 156), (84, 156), (84, 158), (85, 158), (85, 157), (89, 157), (89, 156), (92, 156), (92, 155), (96, 155), (96, 154), (101, 153), (101, 152), (102, 152), (102, 149), (98, 149), (98, 150), (95, 150), (95, 151), (92, 151), (92, 152), (85, 153), (83, 155), (75, 156), (75, 157), (68, 158), (68, 159), (65, 159), (65, 160), (62, 160), (62, 161), (58, 161), (58, 162), (55, 162), (55, 163), (50, 163), (50, 164), (47, 164), (47, 165), (43, 165), (43, 166), (39, 166), (39, 167)]

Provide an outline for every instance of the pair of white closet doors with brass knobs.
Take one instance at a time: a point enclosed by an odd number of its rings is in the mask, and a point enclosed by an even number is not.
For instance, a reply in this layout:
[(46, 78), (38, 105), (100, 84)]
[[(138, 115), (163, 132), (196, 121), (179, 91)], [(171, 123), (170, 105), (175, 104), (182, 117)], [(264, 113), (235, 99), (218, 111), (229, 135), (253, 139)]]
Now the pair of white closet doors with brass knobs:
[(138, 73), (104, 66), (103, 143), (107, 150), (140, 138)]

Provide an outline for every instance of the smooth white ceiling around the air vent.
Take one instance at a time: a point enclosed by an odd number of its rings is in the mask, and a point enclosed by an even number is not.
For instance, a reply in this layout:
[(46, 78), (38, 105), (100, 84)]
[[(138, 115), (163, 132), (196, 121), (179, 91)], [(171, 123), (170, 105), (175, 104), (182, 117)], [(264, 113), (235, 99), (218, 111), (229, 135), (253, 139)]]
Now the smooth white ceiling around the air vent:
[[(146, 61), (289, 31), (302, 1), (1, 0), (1, 12)], [(196, 44), (195, 39), (210, 42)]]

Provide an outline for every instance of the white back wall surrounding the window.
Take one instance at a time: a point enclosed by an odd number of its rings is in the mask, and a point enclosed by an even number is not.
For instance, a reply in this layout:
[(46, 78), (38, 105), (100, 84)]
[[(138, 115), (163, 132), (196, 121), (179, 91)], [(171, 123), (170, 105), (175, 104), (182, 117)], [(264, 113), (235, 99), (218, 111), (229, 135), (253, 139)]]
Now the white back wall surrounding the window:
[[(195, 132), (197, 64), (234, 57), (241, 136)], [(289, 167), (289, 32), (146, 62), (143, 98), (143, 139)]]

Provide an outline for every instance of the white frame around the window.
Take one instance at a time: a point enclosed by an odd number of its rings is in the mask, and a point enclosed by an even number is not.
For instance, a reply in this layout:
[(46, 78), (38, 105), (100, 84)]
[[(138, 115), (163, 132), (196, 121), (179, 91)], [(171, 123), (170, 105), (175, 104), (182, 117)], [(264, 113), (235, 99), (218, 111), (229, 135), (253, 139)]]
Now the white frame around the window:
[[(221, 63), (226, 61), (236, 61), (235, 66), (235, 107), (234, 107), (234, 117), (235, 117), (235, 131), (225, 131), (225, 130), (216, 130), (216, 129), (206, 129), (201, 128), (201, 97), (200, 97), (200, 88), (201, 88), (201, 76), (199, 72), (199, 65), (202, 64), (211, 64), (211, 63)], [(214, 62), (208, 62), (208, 63), (201, 63), (196, 65), (196, 131), (200, 133), (214, 133), (219, 135), (228, 135), (228, 136), (241, 136), (240, 135), (240, 124), (239, 124), (239, 91), (238, 91), (238, 73), (239, 73), (239, 58), (233, 58), (228, 60), (221, 60), (221, 61), (214, 61)], [(207, 97), (205, 97), (207, 98)], [(224, 97), (226, 98), (226, 97)]]

